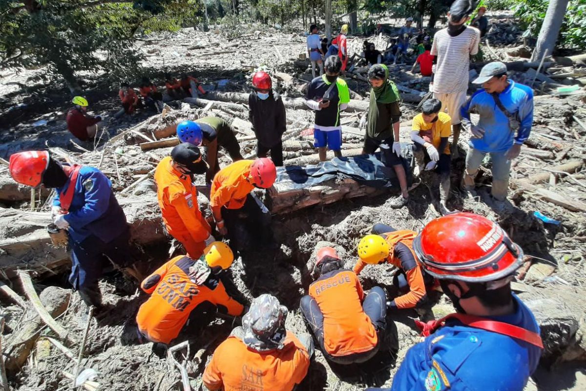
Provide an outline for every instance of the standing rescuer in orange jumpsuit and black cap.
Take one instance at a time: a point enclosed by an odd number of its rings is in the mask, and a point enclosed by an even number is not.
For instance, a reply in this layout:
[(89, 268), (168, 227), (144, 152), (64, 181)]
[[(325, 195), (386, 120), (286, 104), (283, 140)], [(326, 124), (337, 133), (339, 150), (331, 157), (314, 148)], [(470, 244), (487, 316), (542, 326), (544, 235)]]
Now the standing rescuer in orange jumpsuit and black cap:
[(197, 205), (193, 174), (204, 174), (207, 164), (199, 149), (188, 142), (177, 145), (155, 170), (157, 198), (167, 232), (197, 259), (214, 241), (212, 228)]

